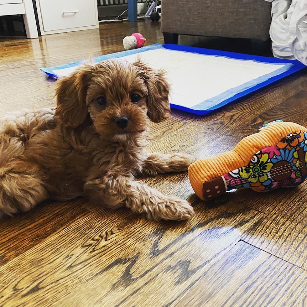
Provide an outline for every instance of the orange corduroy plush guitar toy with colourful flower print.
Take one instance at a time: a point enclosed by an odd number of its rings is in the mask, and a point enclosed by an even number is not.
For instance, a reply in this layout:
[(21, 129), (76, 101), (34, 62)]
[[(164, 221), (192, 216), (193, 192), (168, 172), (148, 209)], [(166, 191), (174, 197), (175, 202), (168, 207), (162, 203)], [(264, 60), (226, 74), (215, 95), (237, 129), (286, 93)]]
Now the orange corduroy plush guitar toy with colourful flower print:
[(195, 193), (211, 200), (233, 189), (265, 192), (297, 186), (307, 177), (306, 164), (307, 128), (275, 121), (243, 138), (231, 151), (195, 161), (188, 174)]

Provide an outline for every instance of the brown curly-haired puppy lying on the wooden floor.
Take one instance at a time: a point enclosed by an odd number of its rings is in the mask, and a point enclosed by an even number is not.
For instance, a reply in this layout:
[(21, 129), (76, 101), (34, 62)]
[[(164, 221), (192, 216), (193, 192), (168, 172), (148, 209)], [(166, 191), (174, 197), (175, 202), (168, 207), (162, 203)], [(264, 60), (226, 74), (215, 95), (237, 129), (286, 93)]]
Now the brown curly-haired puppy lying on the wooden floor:
[(134, 180), (186, 171), (186, 154), (148, 153), (148, 117), (169, 116), (163, 71), (140, 61), (85, 65), (58, 81), (56, 109), (16, 112), (0, 122), (0, 216), (28, 211), (42, 200), (80, 195), (127, 206), (149, 219), (193, 215), (186, 200)]

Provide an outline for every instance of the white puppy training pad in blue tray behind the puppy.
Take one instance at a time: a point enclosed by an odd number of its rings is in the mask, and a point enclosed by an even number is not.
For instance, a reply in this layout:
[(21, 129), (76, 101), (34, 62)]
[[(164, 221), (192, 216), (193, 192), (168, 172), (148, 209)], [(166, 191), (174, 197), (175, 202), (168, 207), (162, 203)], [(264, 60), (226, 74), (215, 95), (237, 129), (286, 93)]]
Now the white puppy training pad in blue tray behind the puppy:
[[(149, 66), (167, 71), (174, 109), (207, 114), (237, 98), (306, 67), (297, 60), (282, 60), (173, 44), (153, 44), (93, 58), (95, 63), (111, 58), (133, 62), (140, 57)], [(83, 61), (42, 68), (58, 78), (69, 75)]]

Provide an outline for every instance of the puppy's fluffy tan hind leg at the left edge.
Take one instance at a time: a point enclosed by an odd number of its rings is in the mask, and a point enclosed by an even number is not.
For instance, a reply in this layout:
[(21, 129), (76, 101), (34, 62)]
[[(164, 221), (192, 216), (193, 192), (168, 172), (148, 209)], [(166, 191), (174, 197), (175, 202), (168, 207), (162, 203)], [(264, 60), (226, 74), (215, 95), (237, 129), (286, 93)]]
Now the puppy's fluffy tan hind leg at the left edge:
[(39, 174), (0, 169), (0, 218), (17, 211), (29, 211), (48, 198)]

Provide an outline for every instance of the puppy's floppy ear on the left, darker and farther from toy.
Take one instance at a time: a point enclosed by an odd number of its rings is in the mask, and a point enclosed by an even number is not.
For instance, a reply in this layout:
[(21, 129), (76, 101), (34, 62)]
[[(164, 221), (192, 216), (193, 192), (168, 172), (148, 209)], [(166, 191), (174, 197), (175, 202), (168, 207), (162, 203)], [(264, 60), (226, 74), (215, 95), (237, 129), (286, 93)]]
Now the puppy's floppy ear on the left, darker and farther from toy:
[(77, 127), (84, 122), (87, 115), (86, 91), (94, 70), (94, 66), (85, 64), (58, 81), (56, 120), (68, 127)]

